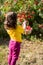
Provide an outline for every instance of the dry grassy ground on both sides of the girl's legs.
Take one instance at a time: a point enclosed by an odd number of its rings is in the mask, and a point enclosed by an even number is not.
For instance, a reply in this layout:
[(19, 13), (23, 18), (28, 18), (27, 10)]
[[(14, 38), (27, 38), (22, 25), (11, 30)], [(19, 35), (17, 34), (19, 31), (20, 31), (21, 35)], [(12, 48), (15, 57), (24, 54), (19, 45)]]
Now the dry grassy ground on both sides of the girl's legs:
[[(8, 40), (0, 39), (0, 65), (8, 65)], [(43, 65), (43, 41), (23, 40), (16, 65)]]

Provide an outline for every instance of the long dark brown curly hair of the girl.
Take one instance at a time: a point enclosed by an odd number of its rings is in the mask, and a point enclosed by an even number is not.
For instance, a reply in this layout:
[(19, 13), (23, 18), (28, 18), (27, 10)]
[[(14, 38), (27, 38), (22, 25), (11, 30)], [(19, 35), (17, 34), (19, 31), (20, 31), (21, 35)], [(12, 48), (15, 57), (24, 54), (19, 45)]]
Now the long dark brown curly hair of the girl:
[(14, 28), (17, 26), (17, 14), (9, 12), (6, 14), (4, 25), (6, 28)]

